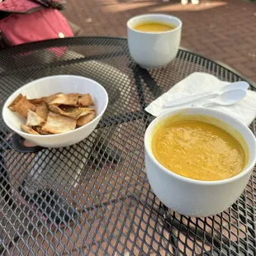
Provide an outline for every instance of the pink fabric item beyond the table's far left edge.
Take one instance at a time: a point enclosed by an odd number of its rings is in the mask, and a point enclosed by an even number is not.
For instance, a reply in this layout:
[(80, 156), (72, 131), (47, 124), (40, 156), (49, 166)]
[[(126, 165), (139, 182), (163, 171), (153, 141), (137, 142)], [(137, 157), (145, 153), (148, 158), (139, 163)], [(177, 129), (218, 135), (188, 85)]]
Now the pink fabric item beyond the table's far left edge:
[(0, 20), (0, 30), (10, 45), (73, 36), (58, 10), (42, 7), (31, 0), (5, 0), (0, 2), (0, 11), (12, 12)]

